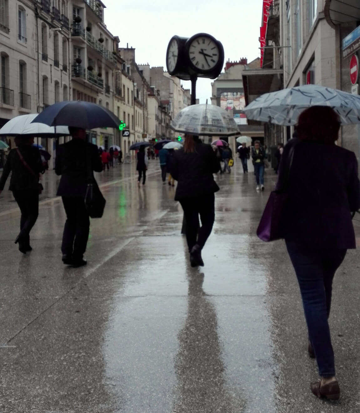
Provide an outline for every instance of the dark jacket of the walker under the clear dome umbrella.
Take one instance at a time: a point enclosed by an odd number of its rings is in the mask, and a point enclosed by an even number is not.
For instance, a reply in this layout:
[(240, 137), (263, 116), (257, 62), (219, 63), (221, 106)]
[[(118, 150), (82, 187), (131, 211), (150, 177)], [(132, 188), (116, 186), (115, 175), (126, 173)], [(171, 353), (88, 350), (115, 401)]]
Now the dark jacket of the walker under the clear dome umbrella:
[(213, 173), (220, 171), (220, 162), (210, 145), (195, 141), (195, 152), (174, 152), (170, 173), (178, 181), (175, 200), (210, 195), (219, 190)]

